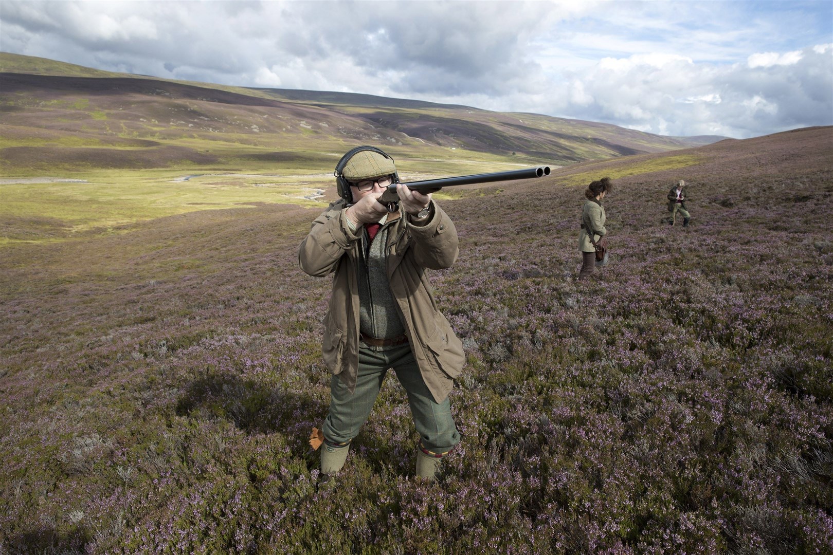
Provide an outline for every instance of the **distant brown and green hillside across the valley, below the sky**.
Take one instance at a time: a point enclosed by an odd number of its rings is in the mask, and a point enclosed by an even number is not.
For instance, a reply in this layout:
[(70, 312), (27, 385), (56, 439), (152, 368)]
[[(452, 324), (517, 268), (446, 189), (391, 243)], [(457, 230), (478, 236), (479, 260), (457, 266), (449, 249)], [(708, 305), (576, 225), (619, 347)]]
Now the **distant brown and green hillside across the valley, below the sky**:
[[(0, 53), (0, 111), (0, 169), (23, 173), (43, 161), (66, 169), (245, 168), (287, 152), (303, 160), (287, 171), (311, 171), (357, 144), (449, 164), (563, 166), (725, 138), (357, 93), (180, 82), (9, 53)], [(135, 151), (124, 151), (128, 144)]]

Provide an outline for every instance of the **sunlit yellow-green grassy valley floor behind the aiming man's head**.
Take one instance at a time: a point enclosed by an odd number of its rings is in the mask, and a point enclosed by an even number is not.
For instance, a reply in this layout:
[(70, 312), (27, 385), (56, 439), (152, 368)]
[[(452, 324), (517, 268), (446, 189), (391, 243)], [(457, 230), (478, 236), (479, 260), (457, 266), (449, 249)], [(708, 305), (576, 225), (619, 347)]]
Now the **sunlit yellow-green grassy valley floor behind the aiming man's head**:
[[(87, 107), (86, 99), (75, 108)], [(102, 125), (103, 111), (92, 111), (90, 125)], [(0, 149), (7, 147), (58, 147), (64, 159), (45, 161), (36, 155), (25, 163), (4, 167), (0, 178), (3, 202), (0, 204), (0, 245), (18, 242), (51, 243), (77, 233), (105, 233), (110, 230), (193, 211), (216, 210), (266, 204), (294, 204), (322, 207), (312, 201), (319, 190), (334, 186), (332, 167), (350, 145), (336, 143), (317, 131), (303, 129), (297, 134), (292, 156), (277, 156), (268, 136), (222, 133), (216, 139), (196, 134), (149, 136), (128, 128), (123, 122), (103, 123), (111, 135), (93, 129), (71, 133), (62, 130), (32, 131), (12, 127), (0, 134)], [(87, 126), (87, 127), (89, 127)], [(109, 138), (108, 138), (109, 137)], [(137, 141), (156, 141), (157, 145), (137, 146)], [(212, 140), (214, 139), (214, 140)], [(216, 158), (211, 164), (169, 161), (170, 167), (156, 169), (98, 169), (73, 159), (74, 149), (98, 149), (103, 164), (125, 164), (154, 160), (167, 146), (190, 149), (195, 154)], [(101, 150), (106, 149), (106, 150)], [(387, 148), (397, 160), (403, 181), (461, 176), (491, 171), (508, 171), (540, 164), (523, 156), (495, 156), (463, 149), (438, 149), (436, 146)], [(112, 152), (112, 155), (107, 154)], [(92, 155), (90, 155), (92, 156)], [(277, 156), (277, 157), (276, 157)], [(66, 161), (64, 161), (66, 160)], [(94, 161), (92, 163), (95, 163)], [(157, 161), (157, 165), (163, 162)], [(204, 174), (204, 175), (203, 175)], [(243, 174), (243, 175), (225, 175)], [(174, 181), (197, 175), (188, 181)], [(3, 183), (14, 178), (72, 178), (79, 182)], [(438, 199), (459, 198), (462, 191), (445, 191)]]

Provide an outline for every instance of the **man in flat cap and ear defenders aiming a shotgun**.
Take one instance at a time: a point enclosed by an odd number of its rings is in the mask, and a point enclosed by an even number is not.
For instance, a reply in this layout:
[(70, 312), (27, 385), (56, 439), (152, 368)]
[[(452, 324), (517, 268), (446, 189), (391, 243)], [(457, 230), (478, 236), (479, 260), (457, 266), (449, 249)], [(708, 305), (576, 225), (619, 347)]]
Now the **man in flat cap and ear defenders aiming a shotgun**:
[[(341, 199), (312, 222), (298, 250), (307, 274), (333, 275), (322, 342), (330, 410), (310, 438), (322, 447), (322, 481), (341, 472), (388, 369), (407, 393), (419, 434), (416, 475), (435, 479), (442, 457), (460, 443), (448, 393), (466, 355), (436, 309), (427, 270), (455, 262), (456, 228), (431, 195), (399, 184), (391, 156), (373, 146), (347, 152), (335, 176)], [(392, 184), (399, 201), (384, 206), (378, 199)]]

